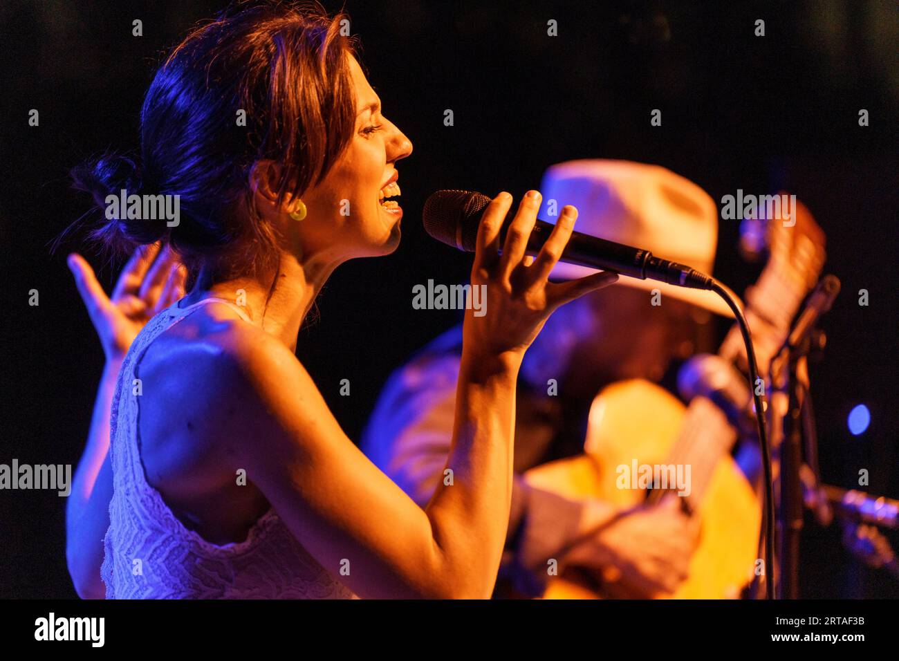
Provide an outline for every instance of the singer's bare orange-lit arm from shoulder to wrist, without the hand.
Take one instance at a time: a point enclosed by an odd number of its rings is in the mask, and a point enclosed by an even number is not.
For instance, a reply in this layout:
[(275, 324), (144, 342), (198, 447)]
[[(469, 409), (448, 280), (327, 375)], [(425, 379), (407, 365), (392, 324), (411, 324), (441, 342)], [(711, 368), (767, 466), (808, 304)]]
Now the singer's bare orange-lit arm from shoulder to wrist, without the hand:
[(341, 580), (360, 596), (489, 596), (508, 518), (516, 365), (481, 362), (460, 380), (454, 484), (423, 510), (352, 444), (292, 363), (219, 372), (218, 382), (242, 384), (229, 391), (245, 404), (218, 431), (230, 432), (237, 467), (297, 539), (334, 575), (348, 568)]

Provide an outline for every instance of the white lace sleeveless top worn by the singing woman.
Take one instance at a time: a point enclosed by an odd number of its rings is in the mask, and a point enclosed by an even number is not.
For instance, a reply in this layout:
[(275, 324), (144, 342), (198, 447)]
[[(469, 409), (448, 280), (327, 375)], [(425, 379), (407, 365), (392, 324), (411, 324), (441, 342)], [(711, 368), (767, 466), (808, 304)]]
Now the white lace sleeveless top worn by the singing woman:
[(348, 599), (352, 592), (312, 558), (273, 509), (246, 540), (218, 545), (190, 531), (147, 483), (140, 459), (140, 397), (132, 395), (140, 360), (167, 328), (198, 306), (175, 303), (153, 317), (131, 344), (112, 399), (110, 461), (113, 494), (103, 540), (107, 599)]

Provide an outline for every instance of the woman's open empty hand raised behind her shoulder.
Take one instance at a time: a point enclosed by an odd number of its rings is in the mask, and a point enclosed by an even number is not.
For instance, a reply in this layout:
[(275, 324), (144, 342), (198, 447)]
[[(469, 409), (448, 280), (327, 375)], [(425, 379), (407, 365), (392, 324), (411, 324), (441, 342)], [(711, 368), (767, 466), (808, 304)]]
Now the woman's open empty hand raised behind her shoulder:
[(84, 257), (72, 253), (67, 263), (108, 362), (120, 362), (147, 321), (184, 296), (187, 272), (171, 249), (160, 250), (158, 243), (131, 255), (111, 297)]

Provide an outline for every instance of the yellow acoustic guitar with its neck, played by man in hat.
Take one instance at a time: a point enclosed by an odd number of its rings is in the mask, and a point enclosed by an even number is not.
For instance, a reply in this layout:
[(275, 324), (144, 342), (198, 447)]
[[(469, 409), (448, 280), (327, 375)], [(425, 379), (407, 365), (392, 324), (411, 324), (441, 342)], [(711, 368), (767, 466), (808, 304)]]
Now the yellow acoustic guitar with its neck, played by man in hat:
[[(824, 263), (823, 232), (804, 205), (797, 207), (793, 225), (780, 219), (764, 223), (768, 263), (745, 296), (762, 378)], [(736, 327), (719, 355), (745, 364)], [(619, 466), (690, 465), (690, 495), (683, 496), (684, 509), (699, 517), (698, 547), (688, 578), (673, 594), (655, 598), (737, 598), (754, 575), (761, 526), (760, 499), (731, 457), (737, 435), (725, 414), (705, 397), (694, 397), (683, 406), (652, 382), (623, 381), (594, 399), (583, 454), (530, 469), (525, 479), (562, 496), (593, 496), (630, 507), (644, 503), (646, 492), (619, 488)], [(550, 579), (544, 598), (609, 596), (615, 594), (610, 586), (616, 578), (610, 572), (598, 584), (593, 577), (564, 568)]]

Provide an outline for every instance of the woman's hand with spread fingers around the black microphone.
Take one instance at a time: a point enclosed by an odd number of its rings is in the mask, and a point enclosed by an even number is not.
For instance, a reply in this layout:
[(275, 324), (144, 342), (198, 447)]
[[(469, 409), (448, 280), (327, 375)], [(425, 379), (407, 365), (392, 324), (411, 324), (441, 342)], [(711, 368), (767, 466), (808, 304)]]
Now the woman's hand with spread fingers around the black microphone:
[(556, 308), (618, 280), (617, 273), (597, 272), (573, 281), (548, 281), (571, 237), (577, 210), (570, 205), (562, 209), (539, 255), (531, 258), (525, 250), (540, 200), (537, 191), (528, 192), (521, 200), (503, 246), (500, 230), (512, 206), (512, 195), (501, 192), (484, 211), (477, 230), (471, 286), (485, 286), (485, 308), (480, 317), (471, 306), (466, 309), (463, 346), (469, 356), (520, 361)]

